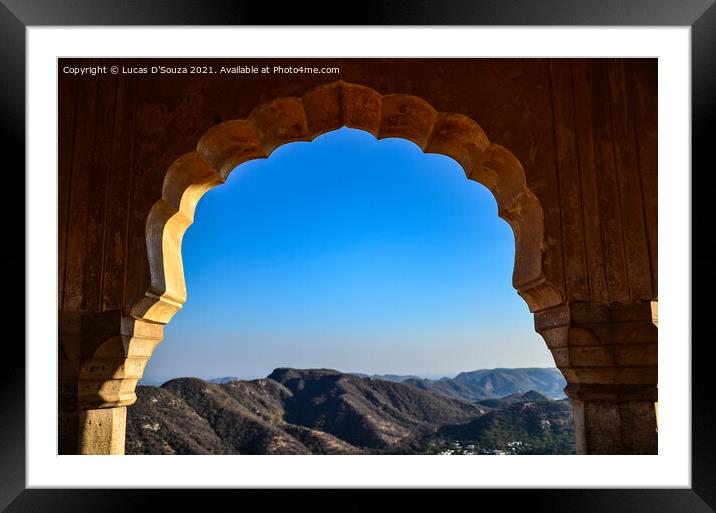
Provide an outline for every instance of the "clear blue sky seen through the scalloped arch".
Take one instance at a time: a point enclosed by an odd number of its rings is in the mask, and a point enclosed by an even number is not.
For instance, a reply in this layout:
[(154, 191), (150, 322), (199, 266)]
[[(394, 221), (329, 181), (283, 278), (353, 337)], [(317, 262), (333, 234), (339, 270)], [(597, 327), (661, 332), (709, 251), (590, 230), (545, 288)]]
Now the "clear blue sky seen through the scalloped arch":
[(406, 140), (343, 128), (242, 164), (201, 200), (182, 254), (188, 299), (145, 382), (554, 366), (494, 197)]

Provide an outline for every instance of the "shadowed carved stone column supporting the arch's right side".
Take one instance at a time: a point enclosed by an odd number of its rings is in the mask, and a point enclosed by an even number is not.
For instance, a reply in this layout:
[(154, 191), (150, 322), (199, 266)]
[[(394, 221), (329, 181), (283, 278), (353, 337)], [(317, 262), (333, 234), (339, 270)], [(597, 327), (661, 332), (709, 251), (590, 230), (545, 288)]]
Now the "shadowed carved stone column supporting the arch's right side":
[(651, 302), (573, 302), (535, 314), (568, 383), (578, 454), (658, 453), (654, 321)]

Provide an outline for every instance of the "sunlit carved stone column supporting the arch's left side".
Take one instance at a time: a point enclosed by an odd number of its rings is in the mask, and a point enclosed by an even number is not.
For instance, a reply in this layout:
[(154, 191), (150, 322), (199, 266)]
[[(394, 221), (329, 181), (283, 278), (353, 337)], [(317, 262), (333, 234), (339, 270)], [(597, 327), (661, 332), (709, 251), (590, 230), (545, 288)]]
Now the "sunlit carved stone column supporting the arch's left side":
[(60, 312), (60, 454), (124, 454), (127, 406), (163, 328), (119, 311)]

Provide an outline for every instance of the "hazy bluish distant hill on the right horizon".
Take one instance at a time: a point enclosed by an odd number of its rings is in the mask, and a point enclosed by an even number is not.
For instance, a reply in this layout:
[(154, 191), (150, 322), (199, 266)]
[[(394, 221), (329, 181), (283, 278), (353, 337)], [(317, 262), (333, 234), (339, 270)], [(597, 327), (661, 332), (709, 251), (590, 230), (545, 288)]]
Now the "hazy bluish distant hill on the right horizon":
[(562, 373), (556, 368), (481, 369), (462, 372), (454, 378), (410, 378), (402, 383), (471, 402), (507, 397), (530, 390), (550, 399), (563, 399), (564, 387), (567, 386)]

